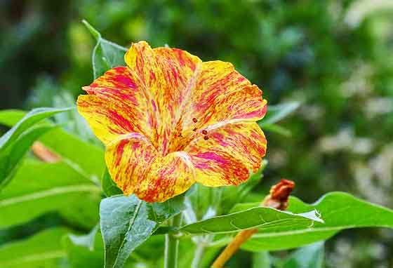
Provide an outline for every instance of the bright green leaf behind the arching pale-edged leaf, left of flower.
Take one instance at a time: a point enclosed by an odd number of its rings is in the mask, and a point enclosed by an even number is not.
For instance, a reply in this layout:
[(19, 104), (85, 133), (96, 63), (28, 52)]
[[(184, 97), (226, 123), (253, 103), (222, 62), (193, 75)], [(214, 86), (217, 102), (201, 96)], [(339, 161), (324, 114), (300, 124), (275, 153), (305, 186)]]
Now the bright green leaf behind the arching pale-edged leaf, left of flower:
[[(20, 110), (0, 111), (0, 124), (14, 126), (26, 112)], [(53, 150), (74, 170), (94, 182), (100, 182), (105, 168), (104, 150), (92, 145), (61, 128), (54, 128), (39, 138), (46, 147)]]

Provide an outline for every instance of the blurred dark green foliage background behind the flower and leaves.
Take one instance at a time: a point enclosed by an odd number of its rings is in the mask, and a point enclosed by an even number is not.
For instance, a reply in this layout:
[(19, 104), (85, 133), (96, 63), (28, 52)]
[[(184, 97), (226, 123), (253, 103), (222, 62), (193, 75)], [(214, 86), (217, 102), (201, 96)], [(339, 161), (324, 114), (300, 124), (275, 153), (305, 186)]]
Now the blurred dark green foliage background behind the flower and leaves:
[[(281, 123), (290, 136), (266, 133), (260, 191), (285, 177), (305, 201), (337, 190), (393, 208), (392, 0), (3, 0), (0, 109), (74, 102), (93, 79), (82, 19), (123, 46), (233, 62), (271, 105), (302, 102)], [(392, 267), (392, 255), (392, 232), (350, 230), (328, 241), (326, 266)]]

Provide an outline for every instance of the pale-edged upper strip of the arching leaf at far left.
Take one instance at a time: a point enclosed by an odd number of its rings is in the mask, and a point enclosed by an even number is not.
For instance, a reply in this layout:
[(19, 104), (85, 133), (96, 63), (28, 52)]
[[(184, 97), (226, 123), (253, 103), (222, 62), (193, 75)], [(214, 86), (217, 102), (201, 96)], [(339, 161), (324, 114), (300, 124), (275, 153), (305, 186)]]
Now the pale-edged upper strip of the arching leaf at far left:
[(13, 126), (0, 138), (0, 152), (10, 146), (15, 140), (17, 140), (22, 133), (35, 123), (46, 119), (49, 116), (53, 116), (59, 112), (66, 112), (72, 108), (36, 108), (28, 112), (18, 123)]

